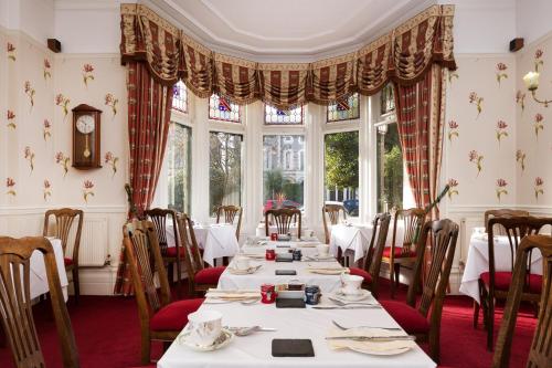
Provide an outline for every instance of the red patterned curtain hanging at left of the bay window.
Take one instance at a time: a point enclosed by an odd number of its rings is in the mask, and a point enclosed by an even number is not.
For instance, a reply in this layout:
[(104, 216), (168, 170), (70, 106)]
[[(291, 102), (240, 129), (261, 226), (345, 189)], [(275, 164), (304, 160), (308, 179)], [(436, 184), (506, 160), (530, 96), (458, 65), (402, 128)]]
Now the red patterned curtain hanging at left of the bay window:
[[(172, 87), (152, 78), (142, 62), (128, 63), (128, 140), (130, 188), (137, 215), (142, 217), (153, 200), (172, 107)], [(132, 293), (128, 262), (121, 251), (115, 294)]]

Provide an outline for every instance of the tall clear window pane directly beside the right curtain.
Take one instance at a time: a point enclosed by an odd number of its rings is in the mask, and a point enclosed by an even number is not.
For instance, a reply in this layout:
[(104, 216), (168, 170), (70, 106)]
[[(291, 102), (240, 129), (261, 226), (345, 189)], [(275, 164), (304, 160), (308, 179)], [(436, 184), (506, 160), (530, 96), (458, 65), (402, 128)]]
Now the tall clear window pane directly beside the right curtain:
[(403, 208), (403, 154), (396, 123), (376, 128), (378, 212)]

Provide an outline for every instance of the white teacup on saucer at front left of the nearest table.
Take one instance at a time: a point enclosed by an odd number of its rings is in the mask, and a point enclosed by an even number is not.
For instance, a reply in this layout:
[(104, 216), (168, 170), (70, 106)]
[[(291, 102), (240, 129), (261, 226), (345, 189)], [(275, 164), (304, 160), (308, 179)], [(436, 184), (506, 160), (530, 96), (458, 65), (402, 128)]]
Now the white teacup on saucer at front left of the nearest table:
[(211, 346), (222, 332), (222, 314), (200, 311), (188, 315), (190, 340), (199, 346)]

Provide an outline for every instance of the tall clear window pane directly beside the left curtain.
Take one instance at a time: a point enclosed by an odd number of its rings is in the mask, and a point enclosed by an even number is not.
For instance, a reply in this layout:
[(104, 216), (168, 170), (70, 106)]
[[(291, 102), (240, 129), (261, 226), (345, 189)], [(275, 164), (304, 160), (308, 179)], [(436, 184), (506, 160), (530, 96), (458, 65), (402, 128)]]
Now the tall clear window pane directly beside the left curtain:
[(167, 145), (169, 209), (190, 213), (192, 129), (171, 123)]

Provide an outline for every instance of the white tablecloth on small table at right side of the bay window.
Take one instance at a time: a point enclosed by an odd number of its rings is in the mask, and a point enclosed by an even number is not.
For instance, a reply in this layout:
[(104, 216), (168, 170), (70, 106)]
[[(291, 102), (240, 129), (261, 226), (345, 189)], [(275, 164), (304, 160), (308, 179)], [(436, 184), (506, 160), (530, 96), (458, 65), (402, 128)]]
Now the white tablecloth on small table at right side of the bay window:
[[(331, 227), (331, 238), (330, 238), (330, 252), (333, 255), (338, 255), (338, 249), (341, 252), (351, 250), (354, 252), (354, 262), (359, 261), (364, 256), (370, 245), (370, 240), (372, 239), (373, 225), (361, 225), (361, 224), (343, 224), (338, 223)], [(396, 229), (396, 245), (402, 246), (402, 241), (404, 236), (404, 228), (399, 223)], [(393, 242), (393, 227), (390, 225), (388, 232), (388, 240), (385, 242), (386, 246), (391, 246)]]

